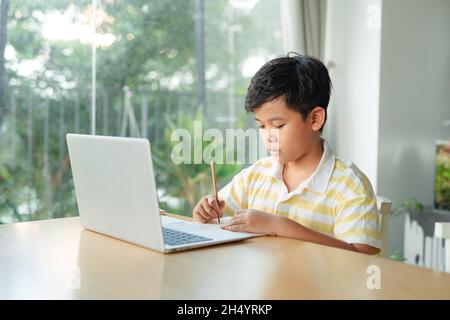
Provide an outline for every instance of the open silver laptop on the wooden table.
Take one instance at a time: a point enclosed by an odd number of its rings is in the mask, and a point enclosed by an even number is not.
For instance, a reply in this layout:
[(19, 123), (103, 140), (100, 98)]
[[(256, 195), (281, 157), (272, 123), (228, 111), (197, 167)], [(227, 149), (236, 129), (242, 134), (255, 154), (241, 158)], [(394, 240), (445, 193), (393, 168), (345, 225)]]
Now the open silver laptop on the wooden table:
[(85, 229), (164, 253), (258, 236), (161, 215), (147, 139), (70, 133), (66, 138)]

